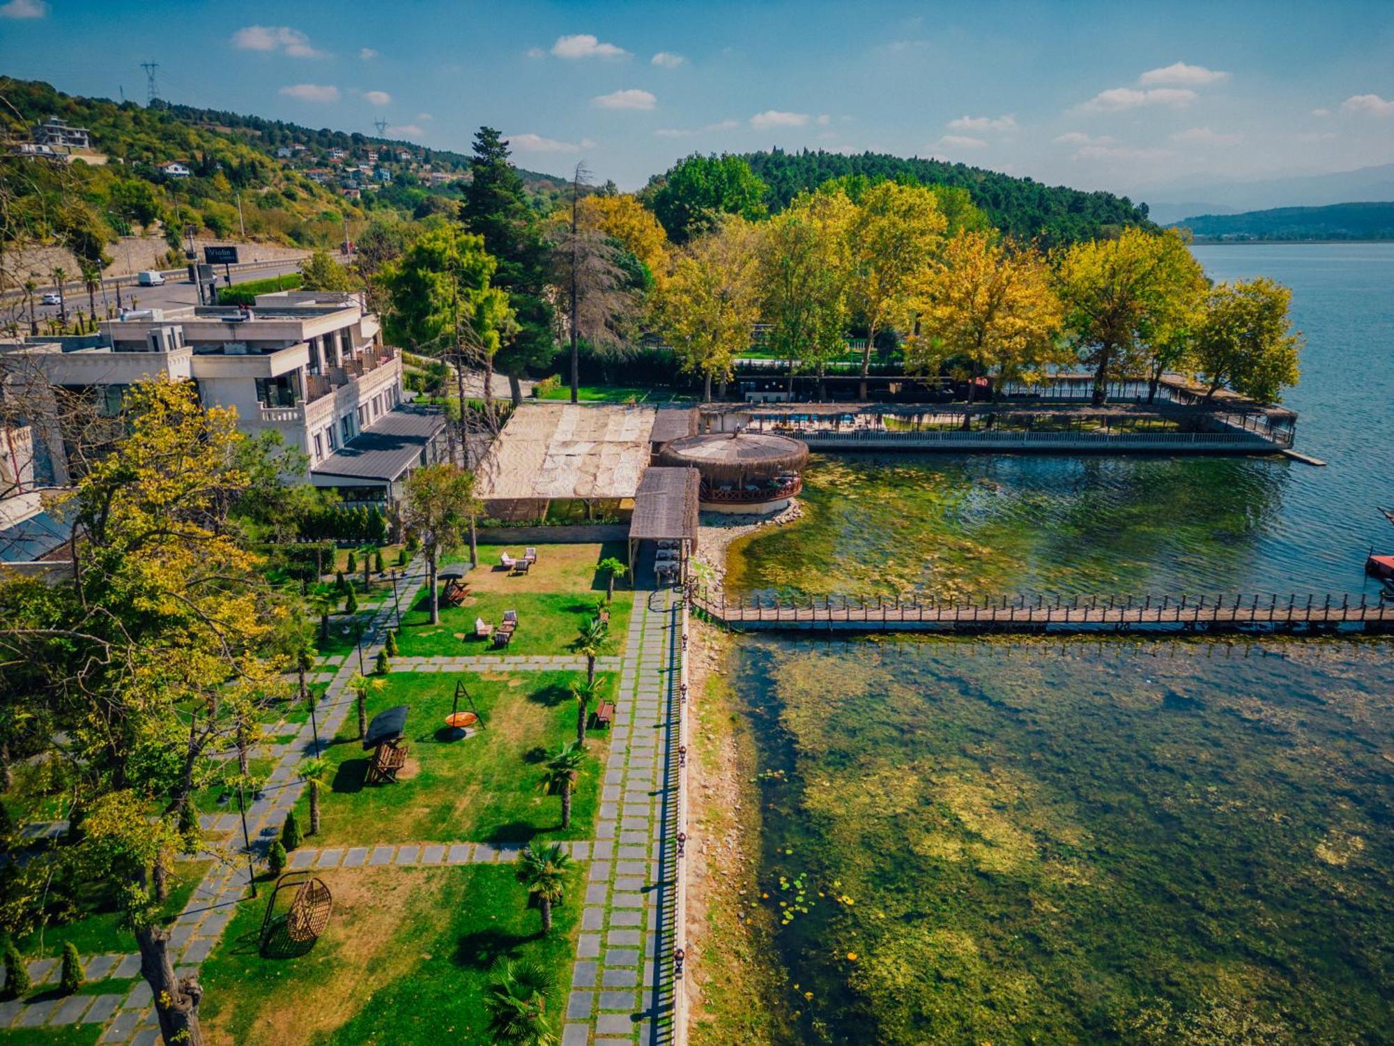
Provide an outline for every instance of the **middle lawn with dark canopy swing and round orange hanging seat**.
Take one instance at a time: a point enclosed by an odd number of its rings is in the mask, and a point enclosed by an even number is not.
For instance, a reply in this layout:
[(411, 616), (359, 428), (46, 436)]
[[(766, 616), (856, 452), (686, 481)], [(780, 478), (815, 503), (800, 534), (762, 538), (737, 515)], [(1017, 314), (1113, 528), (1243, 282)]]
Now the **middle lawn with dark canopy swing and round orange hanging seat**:
[[(552, 838), (590, 838), (601, 789), (601, 766), (609, 745), (605, 731), (587, 734), (585, 771), (572, 806), (572, 827), (562, 831), (560, 799), (538, 791), (542, 761), (576, 735), (573, 672), (393, 672), (368, 697), (368, 717), (397, 704), (410, 706), (406, 770), (397, 784), (364, 784), (369, 753), (358, 741), (358, 717), (350, 711), (325, 752), (329, 788), (321, 799), (316, 847), (365, 847), (375, 842), (526, 842), (539, 833)], [(615, 674), (598, 674), (615, 692)], [(443, 735), (454, 686), (463, 681), (484, 717), (485, 729), (463, 741)], [(468, 707), (468, 706), (464, 706)], [(296, 806), (309, 824), (308, 795)]]

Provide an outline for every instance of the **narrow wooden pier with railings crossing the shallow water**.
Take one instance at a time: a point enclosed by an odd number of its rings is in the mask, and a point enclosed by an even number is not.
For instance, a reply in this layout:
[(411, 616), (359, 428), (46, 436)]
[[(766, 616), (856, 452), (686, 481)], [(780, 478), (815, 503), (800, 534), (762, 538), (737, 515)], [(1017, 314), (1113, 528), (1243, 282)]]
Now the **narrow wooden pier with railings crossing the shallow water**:
[(859, 632), (1394, 630), (1394, 602), (1365, 596), (1016, 596), (976, 601), (923, 596), (742, 596), (689, 589), (694, 609), (739, 629)]

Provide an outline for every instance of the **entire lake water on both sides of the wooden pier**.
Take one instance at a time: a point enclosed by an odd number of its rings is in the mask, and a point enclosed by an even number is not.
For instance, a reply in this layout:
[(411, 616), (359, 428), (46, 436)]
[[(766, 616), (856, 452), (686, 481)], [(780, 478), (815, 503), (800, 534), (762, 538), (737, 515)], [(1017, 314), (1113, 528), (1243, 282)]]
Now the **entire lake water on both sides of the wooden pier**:
[[(821, 456), (733, 591), (1366, 593), (1394, 245), (1200, 247), (1305, 332), (1298, 449)], [(1388, 1042), (1386, 640), (742, 637), (790, 1043)]]

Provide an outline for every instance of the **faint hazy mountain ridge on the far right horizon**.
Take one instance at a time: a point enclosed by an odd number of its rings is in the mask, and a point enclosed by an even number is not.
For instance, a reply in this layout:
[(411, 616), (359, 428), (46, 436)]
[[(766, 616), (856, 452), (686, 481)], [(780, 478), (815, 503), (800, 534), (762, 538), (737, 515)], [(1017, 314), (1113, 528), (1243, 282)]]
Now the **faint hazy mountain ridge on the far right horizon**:
[[(1206, 204), (1186, 202), (1195, 199), (1203, 199)], [(1153, 218), (1168, 223), (1190, 215), (1221, 215), (1225, 211), (1264, 211), (1278, 206), (1326, 206), (1352, 199), (1394, 199), (1394, 163), (1257, 181), (1188, 181), (1147, 194)], [(1189, 212), (1179, 215), (1178, 208), (1189, 208)], [(1158, 218), (1158, 215), (1165, 216)]]

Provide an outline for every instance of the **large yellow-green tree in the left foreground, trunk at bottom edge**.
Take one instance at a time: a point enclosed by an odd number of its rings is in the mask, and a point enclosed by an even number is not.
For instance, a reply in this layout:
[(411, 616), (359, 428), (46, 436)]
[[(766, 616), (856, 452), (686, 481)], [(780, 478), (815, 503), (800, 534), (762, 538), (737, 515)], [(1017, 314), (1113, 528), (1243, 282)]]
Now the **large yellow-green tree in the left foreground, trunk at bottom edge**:
[(39, 667), (28, 700), (63, 724), (74, 773), (79, 828), (26, 872), (54, 862), (120, 886), (160, 1033), (198, 1046), (202, 989), (174, 975), (162, 879), (171, 854), (204, 845), (192, 802), (216, 756), (279, 696), (289, 664), (265, 651), (293, 608), (227, 526), (226, 494), (248, 483), (236, 411), (160, 378), (128, 389), (124, 421), (54, 506), (74, 526), (71, 573), (0, 582), (0, 669)]

